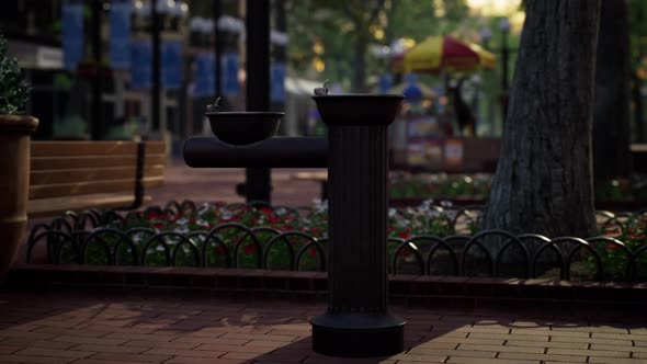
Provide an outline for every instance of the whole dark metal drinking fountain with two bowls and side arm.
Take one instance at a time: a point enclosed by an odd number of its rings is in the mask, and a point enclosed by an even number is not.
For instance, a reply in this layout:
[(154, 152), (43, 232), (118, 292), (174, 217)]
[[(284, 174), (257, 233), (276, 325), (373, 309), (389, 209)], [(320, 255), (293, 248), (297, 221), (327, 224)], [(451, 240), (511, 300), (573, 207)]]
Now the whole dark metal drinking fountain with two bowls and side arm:
[(328, 309), (311, 319), (313, 350), (371, 357), (404, 350), (406, 321), (388, 308), (388, 138), (402, 95), (315, 89), (328, 138), (274, 136), (283, 113), (220, 113), (213, 137), (184, 144), (194, 168), (328, 168)]

